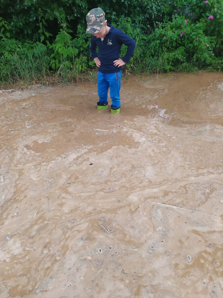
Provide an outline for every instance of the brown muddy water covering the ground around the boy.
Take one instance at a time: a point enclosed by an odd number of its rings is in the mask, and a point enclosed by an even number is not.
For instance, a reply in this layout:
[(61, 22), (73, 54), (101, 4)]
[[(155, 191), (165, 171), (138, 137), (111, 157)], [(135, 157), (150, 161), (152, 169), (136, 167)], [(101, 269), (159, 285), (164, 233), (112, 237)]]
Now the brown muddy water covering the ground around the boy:
[(223, 75), (0, 94), (0, 297), (223, 297)]

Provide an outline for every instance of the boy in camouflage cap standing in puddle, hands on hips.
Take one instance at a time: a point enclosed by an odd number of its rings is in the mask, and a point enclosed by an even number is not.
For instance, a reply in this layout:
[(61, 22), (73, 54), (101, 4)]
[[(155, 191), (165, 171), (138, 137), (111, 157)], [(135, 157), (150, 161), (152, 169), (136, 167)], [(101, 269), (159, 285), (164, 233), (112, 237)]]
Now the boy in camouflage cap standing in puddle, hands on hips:
[[(120, 112), (119, 91), (121, 86), (121, 68), (128, 63), (136, 46), (135, 41), (121, 30), (107, 25), (105, 13), (98, 7), (89, 11), (86, 16), (87, 33), (91, 37), (90, 52), (95, 64), (98, 66), (98, 109), (108, 107), (108, 89), (112, 99), (111, 113)], [(128, 46), (125, 56), (120, 59), (121, 46)], [(98, 54), (96, 51), (98, 46)]]

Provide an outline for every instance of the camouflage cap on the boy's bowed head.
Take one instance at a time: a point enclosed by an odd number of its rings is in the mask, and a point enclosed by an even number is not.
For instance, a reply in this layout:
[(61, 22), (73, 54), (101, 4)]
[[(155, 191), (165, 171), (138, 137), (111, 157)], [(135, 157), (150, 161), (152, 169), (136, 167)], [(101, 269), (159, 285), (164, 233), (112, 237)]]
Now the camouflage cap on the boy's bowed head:
[(105, 22), (105, 13), (100, 7), (93, 8), (87, 14), (86, 20), (87, 20), (86, 34), (98, 33), (103, 23)]

